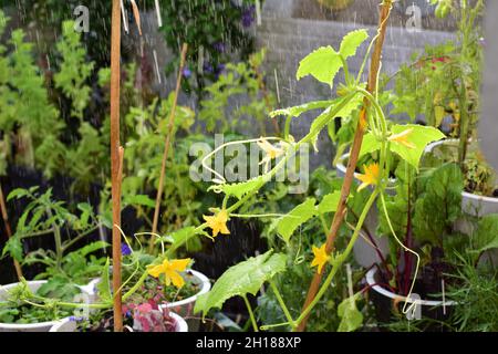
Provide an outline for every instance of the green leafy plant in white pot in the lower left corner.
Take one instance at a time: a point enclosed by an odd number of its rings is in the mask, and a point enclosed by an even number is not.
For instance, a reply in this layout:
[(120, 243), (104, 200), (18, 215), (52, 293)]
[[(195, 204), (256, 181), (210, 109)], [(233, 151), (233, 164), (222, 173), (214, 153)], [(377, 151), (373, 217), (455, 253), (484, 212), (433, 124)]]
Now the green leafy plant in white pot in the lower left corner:
[[(20, 279), (19, 283), (1, 287), (2, 309), (0, 327), (14, 331), (48, 331), (55, 320), (71, 313), (69, 309), (50, 306), (40, 299), (72, 302), (82, 298), (92, 302), (85, 287), (101, 272), (105, 258), (94, 256), (108, 244), (96, 241), (76, 248), (79, 242), (98, 227), (97, 218), (86, 204), (79, 205), (80, 215), (72, 214), (63, 202), (52, 199), (51, 189), (43, 194), (38, 187), (13, 190), (8, 200), (28, 199), (29, 204), (20, 216), (14, 235), (3, 248), (2, 256), (11, 256), (20, 266), (41, 264), (41, 271), (33, 281)], [(66, 236), (69, 233), (69, 236)], [(37, 249), (23, 254), (23, 242), (32, 238), (52, 236), (54, 250)], [(32, 299), (32, 301), (30, 301)]]

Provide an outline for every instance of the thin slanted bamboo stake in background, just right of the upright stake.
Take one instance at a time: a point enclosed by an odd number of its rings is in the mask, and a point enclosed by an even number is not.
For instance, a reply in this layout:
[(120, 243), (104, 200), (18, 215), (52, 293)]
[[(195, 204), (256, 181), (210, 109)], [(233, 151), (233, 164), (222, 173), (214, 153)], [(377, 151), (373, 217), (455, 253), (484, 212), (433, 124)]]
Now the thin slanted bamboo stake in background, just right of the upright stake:
[[(178, 77), (176, 79), (175, 97), (173, 98), (173, 107), (172, 107), (172, 112), (169, 113), (168, 133), (166, 135), (166, 142), (164, 145), (163, 163), (160, 166), (160, 176), (159, 176), (159, 186), (157, 187), (156, 208), (154, 209), (153, 230), (152, 230), (152, 233), (154, 233), (154, 235), (157, 233), (157, 225), (159, 223), (160, 199), (163, 198), (164, 179), (166, 176), (166, 162), (168, 159), (168, 154), (169, 154), (169, 145), (170, 145), (172, 136), (173, 136), (173, 127), (175, 126), (176, 105), (178, 103), (178, 95), (179, 95), (179, 91), (181, 88), (181, 77), (183, 77), (183, 72), (184, 72), (184, 67), (185, 67), (185, 62), (187, 60), (187, 50), (188, 50), (188, 44), (184, 43), (184, 45), (181, 48), (181, 56), (180, 56), (180, 65), (179, 65), (179, 70), (178, 70)], [(151, 238), (151, 243), (148, 244), (149, 253), (152, 253), (154, 251), (154, 243), (156, 240), (156, 237), (154, 235)]]

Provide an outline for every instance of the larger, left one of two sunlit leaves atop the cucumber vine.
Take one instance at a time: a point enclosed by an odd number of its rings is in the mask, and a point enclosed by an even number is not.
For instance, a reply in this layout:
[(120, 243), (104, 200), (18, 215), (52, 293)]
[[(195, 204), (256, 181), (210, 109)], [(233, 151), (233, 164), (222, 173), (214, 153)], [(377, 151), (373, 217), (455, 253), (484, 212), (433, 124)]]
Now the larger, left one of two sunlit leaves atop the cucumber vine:
[(312, 75), (332, 88), (334, 77), (341, 67), (341, 55), (330, 45), (321, 46), (299, 63), (297, 79)]

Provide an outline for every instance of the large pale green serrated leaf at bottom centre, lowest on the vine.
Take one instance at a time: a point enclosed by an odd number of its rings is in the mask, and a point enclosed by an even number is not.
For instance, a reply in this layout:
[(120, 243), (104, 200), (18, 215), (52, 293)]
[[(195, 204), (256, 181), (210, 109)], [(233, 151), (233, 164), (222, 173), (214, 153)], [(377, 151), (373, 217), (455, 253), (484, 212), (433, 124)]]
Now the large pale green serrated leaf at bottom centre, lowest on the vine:
[(208, 293), (197, 299), (194, 312), (206, 314), (210, 309), (220, 309), (230, 298), (256, 295), (264, 282), (286, 270), (287, 254), (271, 253), (272, 250), (229, 268)]

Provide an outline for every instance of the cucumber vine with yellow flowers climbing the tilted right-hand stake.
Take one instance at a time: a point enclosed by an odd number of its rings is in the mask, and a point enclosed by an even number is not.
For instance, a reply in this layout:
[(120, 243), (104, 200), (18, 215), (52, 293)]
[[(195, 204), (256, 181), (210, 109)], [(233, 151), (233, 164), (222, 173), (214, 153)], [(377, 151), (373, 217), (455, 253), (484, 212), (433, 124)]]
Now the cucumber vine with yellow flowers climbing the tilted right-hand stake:
[[(382, 33), (385, 33), (385, 21), (388, 18), (391, 8), (392, 1), (383, 1), (380, 34), (375, 38), (377, 41), (375, 42), (376, 48), (374, 51), (374, 60), (372, 61), (373, 72), (371, 73), (371, 79), (376, 77), (378, 74), (378, 59), (381, 56), (383, 43)], [(248, 200), (251, 200), (251, 197), (281, 168), (283, 168), (283, 166), (286, 166), (287, 160), (295, 154), (300, 146), (303, 144), (315, 145), (318, 134), (333, 122), (336, 116), (349, 115), (360, 107), (360, 116), (357, 117), (359, 138), (354, 139), (354, 154), (352, 154), (352, 156), (356, 155), (354, 157), (357, 158), (357, 154), (360, 153), (359, 146), (361, 145), (359, 143), (361, 143), (363, 138), (364, 131), (367, 131), (365, 136), (365, 143), (367, 144), (365, 144), (366, 148), (364, 155), (378, 152), (380, 160), (378, 164), (372, 164), (365, 167), (365, 174), (360, 178), (362, 184), (360, 185), (359, 190), (366, 190), (366, 187), (369, 186), (373, 186), (374, 190), (369, 194), (366, 201), (363, 202), (357, 222), (352, 227), (352, 236), (347, 240), (344, 249), (334, 250), (333, 247), (330, 247), (330, 240), (320, 247), (313, 244), (312, 252), (314, 259), (311, 266), (318, 267), (315, 275), (321, 277), (324, 270), (329, 269), (326, 266), (331, 264), (325, 281), (321, 284), (320, 278), (318, 282), (315, 282), (313, 278), (307, 302), (302, 311), (294, 317), (293, 314), (290, 313), (284, 299), (282, 299), (281, 293), (274, 283), (274, 278), (278, 274), (286, 272), (289, 254), (282, 251), (274, 252), (274, 250), (270, 250), (263, 254), (249, 258), (227, 270), (208, 293), (199, 296), (195, 306), (196, 311), (206, 315), (209, 310), (220, 308), (227, 299), (240, 296), (247, 304), (253, 330), (259, 331), (260, 326), (256, 321), (248, 298), (250, 294), (257, 294), (261, 287), (264, 283), (268, 283), (276, 294), (276, 299), (286, 316), (286, 322), (264, 324), (262, 329), (288, 326), (292, 330), (302, 330), (302, 323), (305, 323), (308, 316), (312, 314), (312, 311), (315, 309), (319, 301), (323, 299), (323, 295), (329, 291), (330, 283), (335, 279), (334, 277), (339, 269), (344, 266), (347, 257), (351, 254), (354, 243), (361, 235), (362, 227), (371, 207), (374, 205), (377, 197), (384, 200), (391, 156), (396, 154), (403, 162), (417, 168), (426, 145), (432, 142), (435, 136), (436, 139), (437, 136), (442, 136), (437, 129), (432, 127), (417, 125), (387, 125), (385, 114), (374, 93), (374, 83), (376, 80), (371, 80), (370, 85), (367, 86), (369, 90), (365, 90), (365, 84), (360, 83), (362, 71), (355, 79), (350, 75), (347, 66), (345, 65), (347, 59), (356, 54), (357, 48), (366, 39), (367, 33), (365, 30), (353, 31), (345, 35), (340, 50), (335, 50), (331, 46), (320, 48), (300, 62), (297, 73), (298, 79), (311, 75), (331, 87), (333, 86), (335, 74), (339, 70), (343, 69), (345, 73), (345, 83), (341, 86), (339, 97), (335, 100), (312, 102), (295, 107), (279, 110), (272, 114), (272, 116), (286, 115), (289, 121), (307, 111), (323, 110), (311, 124), (309, 134), (300, 140), (294, 140), (293, 137), (290, 136), (289, 125), (286, 124), (282, 138), (262, 137), (259, 139), (240, 142), (240, 144), (247, 144), (253, 140), (259, 142), (260, 148), (266, 153), (267, 164), (264, 165), (263, 173), (257, 178), (240, 184), (228, 184), (225, 180), (218, 180), (211, 189), (224, 195), (222, 205), (218, 208), (211, 208), (212, 216), (206, 217), (207, 222), (199, 227), (203, 230), (210, 228), (214, 232), (212, 236), (217, 236), (219, 231), (226, 230), (226, 222), (230, 218), (266, 217), (264, 215), (255, 215), (250, 211), (247, 215), (241, 215), (237, 211), (241, 206), (246, 205)], [(367, 102), (367, 104), (362, 106), (364, 102)], [(210, 156), (208, 155), (206, 158), (210, 158)], [(354, 164), (355, 160), (353, 162), (352, 169), (354, 169)], [(332, 231), (328, 230), (328, 227), (325, 227), (325, 229), (329, 239), (334, 241), (338, 236), (335, 233), (338, 231), (336, 227), (338, 225), (341, 226), (346, 214), (344, 205), (347, 202), (347, 197), (350, 196), (351, 190), (347, 189), (347, 187), (351, 186), (352, 177), (352, 174), (346, 174), (341, 190), (335, 190), (332, 194), (324, 196), (320, 202), (317, 202), (314, 198), (308, 198), (302, 204), (274, 220), (274, 228), (282, 240), (289, 244), (294, 231), (300, 226), (313, 219), (315, 216), (332, 212), (334, 215)], [(339, 222), (336, 221), (338, 218), (340, 219)], [(334, 252), (332, 252), (332, 250), (334, 250)], [(249, 273), (250, 277), (248, 275)], [(314, 285), (318, 287), (314, 288)], [(314, 292), (313, 289), (315, 289), (317, 292)], [(344, 330), (354, 331), (357, 329), (359, 315), (355, 303), (359, 295), (360, 294), (354, 293), (350, 294), (338, 309), (343, 321), (341, 327)]]

